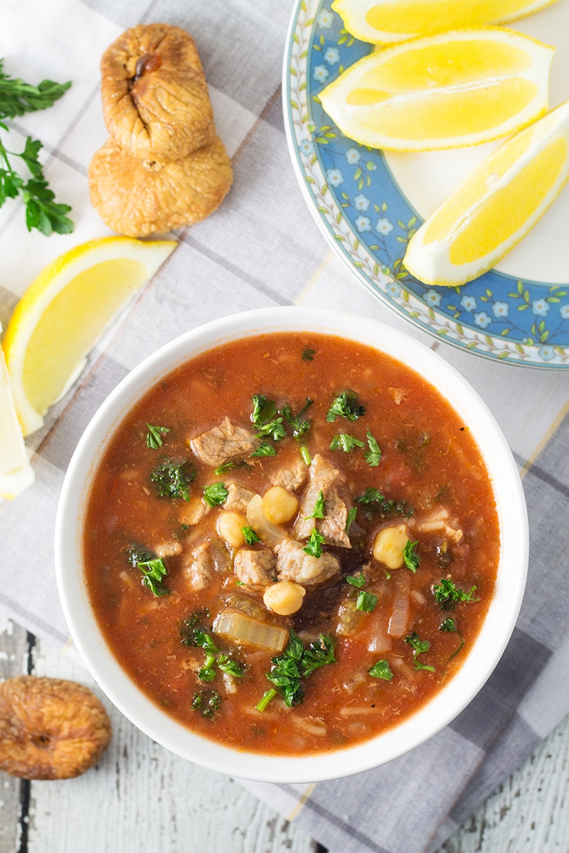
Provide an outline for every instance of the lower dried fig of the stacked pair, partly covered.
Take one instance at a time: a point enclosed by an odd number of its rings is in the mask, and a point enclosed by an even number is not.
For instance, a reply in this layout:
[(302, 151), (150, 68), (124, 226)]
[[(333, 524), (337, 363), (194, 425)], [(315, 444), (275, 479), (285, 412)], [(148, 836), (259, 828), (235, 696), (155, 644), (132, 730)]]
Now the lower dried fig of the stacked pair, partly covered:
[(210, 215), (233, 173), (218, 136), (183, 160), (142, 162), (109, 139), (91, 160), (90, 196), (109, 228), (130, 237), (164, 234)]

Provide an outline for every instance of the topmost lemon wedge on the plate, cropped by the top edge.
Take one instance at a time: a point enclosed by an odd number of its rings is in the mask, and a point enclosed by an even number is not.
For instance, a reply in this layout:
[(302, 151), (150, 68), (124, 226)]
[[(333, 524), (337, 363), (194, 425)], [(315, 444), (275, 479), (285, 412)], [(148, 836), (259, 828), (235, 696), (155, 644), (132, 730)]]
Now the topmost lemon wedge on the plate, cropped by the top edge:
[(480, 24), (505, 24), (556, 0), (334, 0), (352, 36), (371, 44), (402, 42)]

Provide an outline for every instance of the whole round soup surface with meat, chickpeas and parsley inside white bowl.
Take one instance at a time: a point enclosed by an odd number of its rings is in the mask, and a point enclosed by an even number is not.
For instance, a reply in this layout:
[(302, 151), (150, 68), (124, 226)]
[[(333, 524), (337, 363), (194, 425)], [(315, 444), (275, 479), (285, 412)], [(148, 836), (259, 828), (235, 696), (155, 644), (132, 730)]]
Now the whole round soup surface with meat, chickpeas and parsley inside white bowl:
[(136, 684), (206, 737), (289, 755), (367, 740), (444, 686), (499, 556), (456, 412), (391, 357), (309, 333), (167, 375), (111, 438), (84, 529)]

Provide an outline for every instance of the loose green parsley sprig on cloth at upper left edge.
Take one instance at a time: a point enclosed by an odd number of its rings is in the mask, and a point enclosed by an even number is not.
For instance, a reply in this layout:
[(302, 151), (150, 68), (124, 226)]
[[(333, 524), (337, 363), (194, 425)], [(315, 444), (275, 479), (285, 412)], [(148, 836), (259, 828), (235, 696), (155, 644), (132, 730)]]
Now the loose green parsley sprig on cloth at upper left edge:
[[(8, 131), (3, 119), (15, 119), (24, 113), (51, 107), (61, 98), (71, 83), (54, 83), (43, 80), (38, 86), (32, 86), (19, 78), (12, 78), (3, 72), (3, 60), (0, 59), (0, 128)], [(0, 139), (0, 207), (7, 199), (18, 196), (26, 205), (26, 226), (28, 231), (38, 229), (49, 235), (70, 234), (73, 222), (67, 218), (69, 205), (58, 204), (55, 194), (49, 189), (38, 154), (42, 143), (31, 136), (26, 138), (24, 150), (20, 153), (9, 151)], [(31, 177), (22, 177), (12, 165), (11, 158), (17, 157), (26, 165)]]

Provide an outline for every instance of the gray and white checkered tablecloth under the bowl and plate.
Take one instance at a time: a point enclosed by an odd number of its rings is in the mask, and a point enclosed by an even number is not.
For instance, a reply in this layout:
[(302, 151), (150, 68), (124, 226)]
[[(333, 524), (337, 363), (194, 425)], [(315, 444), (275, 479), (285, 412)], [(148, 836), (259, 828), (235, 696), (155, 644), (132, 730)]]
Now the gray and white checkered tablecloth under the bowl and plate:
[(128, 26), (165, 21), (194, 35), (235, 183), (218, 212), (177, 233), (176, 251), (28, 439), (36, 483), (0, 504), (0, 606), (36, 634), (67, 642), (53, 560), (67, 463), (107, 393), (177, 334), (264, 305), (326, 305), (376, 317), (437, 347), (496, 415), (523, 477), (531, 559), (512, 641), (471, 705), (409, 755), (317, 785), (243, 783), (332, 853), (419, 853), (435, 850), (569, 711), (569, 374), (494, 363), (435, 342), (376, 301), (330, 251), (285, 141), (281, 67), (292, 9), (291, 0), (2, 0), (5, 70), (33, 82), (73, 80), (55, 107), (15, 121), (10, 136), (15, 150), (28, 134), (44, 143), (46, 175), (58, 199), (73, 206), (75, 222), (72, 235), (45, 238), (27, 233), (16, 202), (0, 211), (4, 328), (44, 264), (109, 233), (90, 206), (87, 168), (107, 138), (99, 61)]

